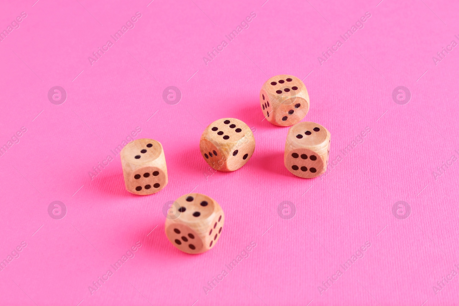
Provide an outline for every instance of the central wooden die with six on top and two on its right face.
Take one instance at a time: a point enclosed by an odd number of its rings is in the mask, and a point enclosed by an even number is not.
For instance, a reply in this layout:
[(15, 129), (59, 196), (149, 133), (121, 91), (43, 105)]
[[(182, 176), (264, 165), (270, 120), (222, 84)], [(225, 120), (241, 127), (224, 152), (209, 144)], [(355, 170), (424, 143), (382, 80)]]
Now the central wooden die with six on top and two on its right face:
[(252, 157), (255, 138), (243, 121), (222, 118), (204, 130), (199, 148), (210, 167), (224, 172), (235, 171)]

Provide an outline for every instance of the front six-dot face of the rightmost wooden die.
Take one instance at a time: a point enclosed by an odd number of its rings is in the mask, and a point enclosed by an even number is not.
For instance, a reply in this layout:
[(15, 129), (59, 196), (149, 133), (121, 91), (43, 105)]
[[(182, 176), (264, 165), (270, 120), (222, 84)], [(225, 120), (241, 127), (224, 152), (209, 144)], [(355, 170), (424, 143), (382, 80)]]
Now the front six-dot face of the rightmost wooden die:
[(284, 157), (285, 167), (300, 178), (315, 178), (324, 172), (324, 161), (309, 149), (291, 150)]

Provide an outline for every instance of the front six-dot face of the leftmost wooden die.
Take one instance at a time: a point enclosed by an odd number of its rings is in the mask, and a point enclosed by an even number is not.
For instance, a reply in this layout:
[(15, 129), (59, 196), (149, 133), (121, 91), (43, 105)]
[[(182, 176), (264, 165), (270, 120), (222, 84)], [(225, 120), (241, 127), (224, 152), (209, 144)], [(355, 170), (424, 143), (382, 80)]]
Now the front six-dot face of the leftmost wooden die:
[(158, 167), (141, 167), (124, 175), (126, 189), (134, 195), (151, 195), (167, 184), (165, 173)]

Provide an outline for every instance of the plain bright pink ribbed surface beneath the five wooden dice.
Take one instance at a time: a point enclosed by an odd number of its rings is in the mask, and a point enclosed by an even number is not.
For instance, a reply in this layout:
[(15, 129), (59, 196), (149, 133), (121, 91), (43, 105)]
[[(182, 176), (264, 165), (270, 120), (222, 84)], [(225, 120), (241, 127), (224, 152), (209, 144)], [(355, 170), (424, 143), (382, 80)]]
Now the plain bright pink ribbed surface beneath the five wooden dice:
[[(27, 247), (0, 271), (1, 305), (458, 302), (458, 276), (433, 288), (459, 272), (458, 47), (432, 60), (459, 43), (457, 1), (14, 2), (2, 4), (0, 28), (22, 11), (27, 17), (0, 42), (0, 145), (27, 132), (0, 156), (0, 259), (22, 241)], [(91, 66), (92, 52), (137, 11), (135, 27)], [(252, 11), (249, 28), (206, 66), (203, 56)], [(320, 65), (317, 57), (367, 11), (364, 28)], [(259, 90), (281, 73), (304, 78), (304, 120), (331, 133), (320, 178), (285, 169), (288, 128), (263, 120)], [(56, 85), (67, 92), (61, 105), (47, 98)], [(171, 85), (183, 95), (176, 105), (162, 100)], [(412, 95), (406, 105), (392, 100), (400, 85)], [(222, 117), (254, 127), (257, 145), (240, 170), (213, 174), (198, 143)], [(169, 184), (155, 195), (124, 189), (119, 156), (89, 175), (136, 127), (136, 139), (164, 147)], [(163, 230), (164, 203), (192, 190), (226, 216), (218, 244), (198, 256), (175, 249)], [(67, 207), (60, 220), (48, 215), (55, 200)], [(285, 200), (297, 210), (289, 220), (277, 213)], [(392, 215), (399, 200), (411, 207), (404, 220)], [(134, 258), (91, 295), (92, 282), (137, 241)], [(250, 256), (229, 271), (225, 264), (252, 241)], [(366, 241), (364, 257), (344, 271)], [(223, 269), (228, 275), (206, 295), (203, 286)]]

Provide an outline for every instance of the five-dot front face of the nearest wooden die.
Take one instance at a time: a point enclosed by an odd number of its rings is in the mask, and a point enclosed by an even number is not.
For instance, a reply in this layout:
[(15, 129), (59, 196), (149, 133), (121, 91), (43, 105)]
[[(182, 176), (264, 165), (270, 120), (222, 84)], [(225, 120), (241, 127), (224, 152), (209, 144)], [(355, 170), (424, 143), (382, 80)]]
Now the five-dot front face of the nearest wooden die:
[(204, 243), (194, 230), (183, 223), (172, 223), (166, 228), (166, 236), (179, 250), (188, 254), (203, 252)]

